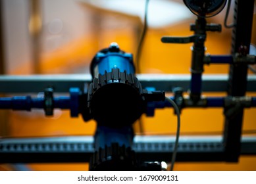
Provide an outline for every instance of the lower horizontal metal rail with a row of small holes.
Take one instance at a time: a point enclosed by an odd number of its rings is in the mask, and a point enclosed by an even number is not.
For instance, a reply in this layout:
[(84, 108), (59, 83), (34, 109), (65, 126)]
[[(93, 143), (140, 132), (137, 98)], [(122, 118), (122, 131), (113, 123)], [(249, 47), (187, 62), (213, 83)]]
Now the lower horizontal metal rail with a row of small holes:
[[(143, 161), (170, 162), (174, 136), (136, 136), (134, 147)], [(242, 155), (256, 154), (256, 137), (242, 138)], [(0, 139), (0, 163), (89, 162), (92, 136)], [(225, 162), (221, 136), (182, 136), (178, 162)]]

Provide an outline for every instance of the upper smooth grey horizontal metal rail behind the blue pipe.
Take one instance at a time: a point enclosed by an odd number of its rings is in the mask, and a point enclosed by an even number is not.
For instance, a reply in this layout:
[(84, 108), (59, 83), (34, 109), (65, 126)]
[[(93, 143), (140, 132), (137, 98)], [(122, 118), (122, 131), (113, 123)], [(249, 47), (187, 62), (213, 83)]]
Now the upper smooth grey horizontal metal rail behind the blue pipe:
[[(143, 88), (155, 87), (157, 90), (172, 91), (190, 87), (190, 74), (138, 74)], [(38, 93), (47, 87), (55, 92), (68, 93), (70, 87), (84, 89), (91, 82), (90, 74), (0, 76), (0, 93)], [(226, 92), (228, 76), (223, 74), (203, 75), (202, 90), (205, 92)], [(256, 92), (256, 76), (247, 76), (247, 91)]]

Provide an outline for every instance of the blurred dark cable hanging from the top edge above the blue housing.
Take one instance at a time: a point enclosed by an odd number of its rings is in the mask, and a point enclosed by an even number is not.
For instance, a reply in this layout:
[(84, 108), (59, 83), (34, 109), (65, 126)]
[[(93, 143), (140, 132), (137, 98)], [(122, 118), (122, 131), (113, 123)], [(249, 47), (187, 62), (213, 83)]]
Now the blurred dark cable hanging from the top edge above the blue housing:
[(142, 34), (140, 37), (140, 41), (137, 47), (137, 52), (136, 52), (136, 69), (137, 69), (137, 74), (140, 74), (140, 57), (141, 57), (141, 50), (143, 47), (143, 42), (145, 39), (145, 34), (147, 32), (147, 10), (149, 7), (149, 0), (145, 0), (145, 12), (144, 12), (144, 24), (143, 24), (143, 30)]

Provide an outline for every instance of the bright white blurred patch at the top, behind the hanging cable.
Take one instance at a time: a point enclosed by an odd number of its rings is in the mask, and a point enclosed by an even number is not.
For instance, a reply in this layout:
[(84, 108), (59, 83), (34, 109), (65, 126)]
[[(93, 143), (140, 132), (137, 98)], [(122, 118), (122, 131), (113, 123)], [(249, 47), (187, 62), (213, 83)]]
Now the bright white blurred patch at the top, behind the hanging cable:
[[(143, 21), (145, 11), (145, 1), (138, 0), (79, 0), (89, 3), (100, 9), (125, 13), (131, 16), (139, 16)], [(149, 1), (148, 9), (148, 25), (158, 28), (175, 24), (182, 20), (186, 20), (192, 16), (184, 3), (176, 3), (174, 1), (155, 0)]]

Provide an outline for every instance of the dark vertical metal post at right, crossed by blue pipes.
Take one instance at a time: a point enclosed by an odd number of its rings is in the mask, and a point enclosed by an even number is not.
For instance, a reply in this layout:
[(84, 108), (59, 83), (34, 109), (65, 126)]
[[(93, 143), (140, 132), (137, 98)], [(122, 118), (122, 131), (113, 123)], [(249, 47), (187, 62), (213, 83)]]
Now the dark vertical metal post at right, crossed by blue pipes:
[[(232, 33), (232, 55), (249, 52), (253, 22), (254, 0), (236, 0), (234, 9), (234, 24)], [(247, 65), (230, 65), (228, 80), (228, 95), (242, 97), (247, 87)], [(225, 111), (228, 110), (226, 107)], [(224, 124), (224, 147), (227, 162), (238, 162), (240, 156), (240, 141), (242, 133), (243, 108), (234, 116), (226, 116)]]

